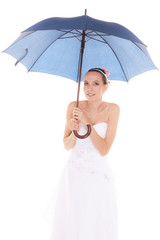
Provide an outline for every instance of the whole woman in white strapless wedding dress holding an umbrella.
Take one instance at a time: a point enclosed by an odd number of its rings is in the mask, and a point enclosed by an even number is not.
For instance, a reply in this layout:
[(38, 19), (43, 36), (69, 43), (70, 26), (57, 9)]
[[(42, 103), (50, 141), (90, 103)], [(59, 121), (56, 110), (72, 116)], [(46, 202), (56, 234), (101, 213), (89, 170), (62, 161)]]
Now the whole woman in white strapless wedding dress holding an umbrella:
[[(107, 154), (114, 141), (119, 106), (103, 102), (108, 71), (90, 69), (84, 77), (86, 101), (68, 105), (64, 147), (72, 149), (57, 196), (53, 240), (116, 240), (117, 205)], [(88, 138), (79, 139), (90, 124)]]

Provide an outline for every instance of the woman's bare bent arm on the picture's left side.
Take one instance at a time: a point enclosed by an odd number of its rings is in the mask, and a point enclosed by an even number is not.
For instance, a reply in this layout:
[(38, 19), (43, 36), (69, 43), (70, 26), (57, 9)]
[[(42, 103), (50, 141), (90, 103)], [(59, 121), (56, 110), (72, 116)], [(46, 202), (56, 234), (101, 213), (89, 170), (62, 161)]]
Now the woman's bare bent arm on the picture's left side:
[[(66, 150), (70, 150), (74, 146), (75, 140), (76, 140), (76, 137), (73, 131), (71, 130), (71, 128), (74, 128), (75, 130), (77, 130), (76, 122), (75, 122), (76, 120), (72, 119), (72, 112), (73, 112), (74, 106), (75, 106), (75, 102), (71, 102), (67, 108), (66, 125), (65, 125), (64, 137), (63, 137), (63, 143)], [(70, 124), (71, 119), (72, 119), (72, 123)], [(71, 125), (71, 128), (70, 128), (70, 125)]]

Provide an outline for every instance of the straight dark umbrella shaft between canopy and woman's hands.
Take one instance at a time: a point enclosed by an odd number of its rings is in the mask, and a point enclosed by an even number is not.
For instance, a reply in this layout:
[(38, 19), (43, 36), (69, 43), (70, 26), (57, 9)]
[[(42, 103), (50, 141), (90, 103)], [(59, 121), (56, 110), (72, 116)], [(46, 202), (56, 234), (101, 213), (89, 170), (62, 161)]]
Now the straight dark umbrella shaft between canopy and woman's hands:
[(80, 83), (81, 83), (81, 74), (82, 74), (82, 63), (83, 63), (84, 48), (85, 48), (85, 30), (83, 30), (82, 40), (81, 40), (81, 51), (80, 51), (79, 68), (78, 68), (78, 91), (77, 91), (76, 107), (79, 106), (79, 92), (80, 92)]

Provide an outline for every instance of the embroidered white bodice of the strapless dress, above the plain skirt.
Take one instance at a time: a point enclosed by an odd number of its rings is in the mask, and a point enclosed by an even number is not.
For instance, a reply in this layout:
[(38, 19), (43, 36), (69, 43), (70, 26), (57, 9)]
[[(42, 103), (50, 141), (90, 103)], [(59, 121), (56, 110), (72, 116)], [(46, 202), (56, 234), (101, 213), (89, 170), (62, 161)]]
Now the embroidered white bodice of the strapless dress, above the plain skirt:
[[(100, 137), (105, 138), (108, 127), (106, 122), (97, 123), (93, 125), (93, 127)], [(80, 135), (84, 135), (86, 133), (84, 125), (80, 125), (80, 130), (78, 133)], [(89, 136), (85, 139), (76, 138), (75, 145), (70, 153), (68, 165), (70, 168), (76, 168), (77, 170), (92, 174), (101, 173), (104, 176), (109, 177), (109, 166), (107, 159), (107, 155), (102, 156), (99, 153)]]

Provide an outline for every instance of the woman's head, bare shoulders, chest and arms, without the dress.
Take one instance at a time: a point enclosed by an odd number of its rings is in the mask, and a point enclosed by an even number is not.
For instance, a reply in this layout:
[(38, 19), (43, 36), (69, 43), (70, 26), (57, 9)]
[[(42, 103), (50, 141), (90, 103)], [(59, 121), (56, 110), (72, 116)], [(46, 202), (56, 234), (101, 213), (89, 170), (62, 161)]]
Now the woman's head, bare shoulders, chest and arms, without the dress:
[[(76, 102), (69, 104), (64, 133), (64, 146), (67, 150), (75, 144), (73, 130), (79, 130), (81, 121), (85, 126), (91, 125), (90, 138), (100, 154), (103, 156), (109, 152), (116, 135), (120, 109), (117, 104), (102, 101), (103, 94), (108, 89), (107, 73), (99, 68), (90, 69), (84, 77), (84, 93), (88, 100), (80, 101), (79, 108), (75, 107)], [(108, 124), (105, 139), (99, 137), (93, 128), (93, 125), (100, 122)]]

